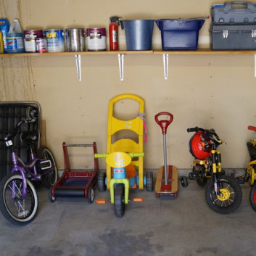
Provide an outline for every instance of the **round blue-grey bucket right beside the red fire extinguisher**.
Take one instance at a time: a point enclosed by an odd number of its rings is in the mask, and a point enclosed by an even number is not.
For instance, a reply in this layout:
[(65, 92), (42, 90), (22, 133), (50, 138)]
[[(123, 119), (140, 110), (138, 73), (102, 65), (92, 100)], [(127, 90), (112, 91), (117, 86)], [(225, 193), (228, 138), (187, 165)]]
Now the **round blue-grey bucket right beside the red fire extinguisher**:
[(120, 20), (125, 28), (126, 49), (147, 51), (152, 49), (154, 20)]

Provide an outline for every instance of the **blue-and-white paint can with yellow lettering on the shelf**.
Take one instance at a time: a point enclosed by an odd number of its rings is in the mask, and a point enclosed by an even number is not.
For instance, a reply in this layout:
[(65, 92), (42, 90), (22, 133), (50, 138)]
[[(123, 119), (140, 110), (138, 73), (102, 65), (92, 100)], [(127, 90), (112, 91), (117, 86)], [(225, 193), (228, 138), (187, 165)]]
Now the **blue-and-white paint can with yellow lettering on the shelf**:
[(64, 33), (62, 29), (46, 29), (44, 30), (44, 36), (49, 52), (65, 51)]

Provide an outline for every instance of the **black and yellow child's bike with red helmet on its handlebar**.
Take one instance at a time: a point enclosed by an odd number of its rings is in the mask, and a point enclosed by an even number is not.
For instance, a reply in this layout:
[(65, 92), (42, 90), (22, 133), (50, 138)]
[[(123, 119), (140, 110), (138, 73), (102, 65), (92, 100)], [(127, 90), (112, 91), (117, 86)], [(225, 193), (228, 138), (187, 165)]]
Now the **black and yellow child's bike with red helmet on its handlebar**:
[[(207, 205), (215, 212), (228, 214), (241, 204), (241, 187), (234, 176), (226, 176), (221, 168), (218, 146), (223, 144), (213, 129), (189, 128), (195, 132), (189, 141), (191, 154), (195, 157), (189, 178), (205, 186)], [(207, 182), (207, 180), (209, 181)]]

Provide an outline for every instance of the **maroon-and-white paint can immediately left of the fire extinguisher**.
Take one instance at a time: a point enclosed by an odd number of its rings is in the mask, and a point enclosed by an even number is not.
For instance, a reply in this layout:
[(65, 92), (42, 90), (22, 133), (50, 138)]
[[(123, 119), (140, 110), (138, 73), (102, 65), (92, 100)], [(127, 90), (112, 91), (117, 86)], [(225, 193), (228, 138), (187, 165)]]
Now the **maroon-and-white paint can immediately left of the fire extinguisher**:
[(87, 46), (88, 51), (106, 50), (106, 29), (105, 28), (87, 28)]

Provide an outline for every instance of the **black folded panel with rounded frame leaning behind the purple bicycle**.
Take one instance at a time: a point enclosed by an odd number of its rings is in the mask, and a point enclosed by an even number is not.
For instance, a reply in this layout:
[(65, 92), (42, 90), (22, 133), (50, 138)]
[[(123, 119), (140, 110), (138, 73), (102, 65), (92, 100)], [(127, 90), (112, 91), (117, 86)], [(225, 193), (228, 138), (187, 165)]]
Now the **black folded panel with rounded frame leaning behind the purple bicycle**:
[[(15, 125), (25, 119), (28, 116), (28, 112), (31, 111), (33, 111), (35, 117), (37, 117), (36, 122), (22, 125), (14, 140), (15, 150), (24, 162), (28, 161), (29, 152), (27, 151), (27, 145), (21, 143), (20, 134), (24, 131), (40, 131), (40, 105), (37, 102), (0, 102), (1, 138), (13, 132)], [(40, 146), (40, 140), (37, 141), (35, 146), (36, 148)], [(12, 159), (9, 150), (10, 149), (7, 149), (4, 142), (0, 142), (0, 181), (12, 170)]]

